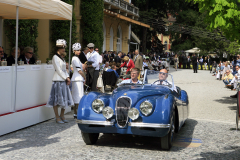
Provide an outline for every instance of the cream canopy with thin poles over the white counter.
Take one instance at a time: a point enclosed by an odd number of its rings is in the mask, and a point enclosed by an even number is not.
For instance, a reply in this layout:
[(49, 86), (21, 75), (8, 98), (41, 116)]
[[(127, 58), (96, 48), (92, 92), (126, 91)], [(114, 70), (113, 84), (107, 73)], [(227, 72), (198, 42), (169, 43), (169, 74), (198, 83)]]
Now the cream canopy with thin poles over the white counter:
[[(60, 0), (0, 0), (0, 18), (16, 19), (15, 57), (17, 57), (17, 52), (18, 52), (17, 48), (18, 48), (19, 19), (70, 20), (70, 39), (68, 44), (69, 45), (69, 61), (70, 61), (71, 34), (72, 34), (72, 5), (64, 3)], [(2, 27), (3, 26), (0, 26), (0, 31), (2, 30)], [(15, 87), (15, 92), (14, 92), (15, 93), (14, 111), (15, 111), (16, 88), (17, 88), (17, 58), (15, 59), (15, 86), (14, 87)]]

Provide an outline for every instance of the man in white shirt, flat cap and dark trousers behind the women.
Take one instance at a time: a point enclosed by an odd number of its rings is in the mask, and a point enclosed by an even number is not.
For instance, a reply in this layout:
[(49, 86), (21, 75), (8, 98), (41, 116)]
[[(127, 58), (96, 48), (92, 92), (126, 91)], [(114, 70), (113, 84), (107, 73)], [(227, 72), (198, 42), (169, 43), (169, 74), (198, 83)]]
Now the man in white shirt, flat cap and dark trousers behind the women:
[(94, 50), (94, 44), (89, 43), (87, 45), (89, 52), (87, 53), (88, 62), (92, 62), (88, 65), (88, 85), (91, 86), (92, 91), (97, 91), (97, 79), (99, 77), (99, 54)]

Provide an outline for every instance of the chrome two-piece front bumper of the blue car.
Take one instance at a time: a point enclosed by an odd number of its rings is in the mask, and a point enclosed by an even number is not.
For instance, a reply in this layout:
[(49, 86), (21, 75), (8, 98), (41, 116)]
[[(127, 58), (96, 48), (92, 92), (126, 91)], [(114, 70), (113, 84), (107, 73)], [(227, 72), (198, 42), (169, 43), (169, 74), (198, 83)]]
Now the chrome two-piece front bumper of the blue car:
[[(79, 124), (114, 126), (114, 121), (92, 121), (92, 120), (76, 120)], [(146, 128), (170, 128), (170, 124), (128, 122), (130, 127), (146, 127)]]

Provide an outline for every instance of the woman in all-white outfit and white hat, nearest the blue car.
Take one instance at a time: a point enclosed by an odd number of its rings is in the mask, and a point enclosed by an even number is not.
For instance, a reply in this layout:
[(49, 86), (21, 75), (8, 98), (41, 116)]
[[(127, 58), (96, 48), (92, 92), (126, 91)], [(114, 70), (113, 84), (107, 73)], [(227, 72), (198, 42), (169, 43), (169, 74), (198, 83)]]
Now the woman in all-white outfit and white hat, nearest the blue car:
[(72, 76), (72, 97), (75, 106), (73, 107), (74, 111), (74, 118), (77, 118), (77, 109), (81, 98), (84, 95), (84, 87), (83, 84), (85, 83), (85, 75), (83, 73), (84, 64), (80, 62), (79, 55), (81, 53), (81, 45), (80, 43), (75, 43), (72, 46), (74, 56), (72, 58), (72, 67), (73, 67), (73, 76)]

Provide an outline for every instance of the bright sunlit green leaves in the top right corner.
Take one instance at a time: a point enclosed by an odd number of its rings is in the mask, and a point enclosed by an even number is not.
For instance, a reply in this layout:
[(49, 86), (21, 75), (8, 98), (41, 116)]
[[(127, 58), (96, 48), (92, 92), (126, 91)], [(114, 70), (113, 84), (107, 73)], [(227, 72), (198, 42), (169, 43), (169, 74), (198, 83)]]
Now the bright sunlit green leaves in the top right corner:
[(188, 0), (199, 4), (199, 11), (206, 12), (209, 29), (219, 28), (220, 34), (235, 41), (240, 36), (239, 0)]

